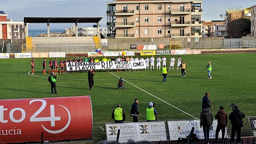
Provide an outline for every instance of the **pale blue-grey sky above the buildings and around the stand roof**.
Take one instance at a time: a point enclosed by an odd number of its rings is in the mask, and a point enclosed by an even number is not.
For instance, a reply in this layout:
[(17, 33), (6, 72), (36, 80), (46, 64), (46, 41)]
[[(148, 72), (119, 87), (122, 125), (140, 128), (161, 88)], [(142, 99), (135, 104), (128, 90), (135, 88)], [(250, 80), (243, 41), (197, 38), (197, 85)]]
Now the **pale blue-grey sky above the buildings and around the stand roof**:
[[(26, 2), (24, 2), (26, 1)], [(23, 20), (24, 17), (102, 17), (100, 25), (106, 26), (106, 2), (112, 0), (0, 0), (0, 10), (7, 18)], [(255, 0), (203, 0), (202, 20), (222, 20), (226, 9), (252, 7)], [(93, 24), (78, 24), (92, 27)], [(50, 24), (50, 29), (70, 28), (72, 24)], [(29, 29), (46, 29), (46, 24), (29, 24)]]

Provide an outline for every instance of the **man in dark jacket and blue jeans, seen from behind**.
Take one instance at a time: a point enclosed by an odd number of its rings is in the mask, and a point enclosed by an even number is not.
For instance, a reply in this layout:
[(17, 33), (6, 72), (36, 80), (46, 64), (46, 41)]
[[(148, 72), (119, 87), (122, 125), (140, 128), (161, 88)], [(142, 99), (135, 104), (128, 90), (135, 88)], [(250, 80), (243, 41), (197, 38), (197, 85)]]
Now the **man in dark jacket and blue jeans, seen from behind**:
[(203, 132), (205, 136), (205, 143), (209, 144), (209, 133), (210, 133), (210, 126), (213, 124), (213, 114), (210, 112), (209, 109), (205, 108), (202, 110), (200, 115), (200, 128), (203, 126)]

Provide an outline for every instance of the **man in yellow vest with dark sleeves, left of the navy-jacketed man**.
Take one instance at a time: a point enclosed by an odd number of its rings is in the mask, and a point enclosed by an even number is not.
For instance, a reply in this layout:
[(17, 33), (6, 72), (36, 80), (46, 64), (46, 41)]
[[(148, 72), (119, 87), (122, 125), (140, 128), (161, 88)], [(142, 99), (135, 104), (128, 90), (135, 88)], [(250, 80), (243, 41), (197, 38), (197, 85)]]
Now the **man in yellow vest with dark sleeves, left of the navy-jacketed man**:
[(123, 123), (125, 121), (126, 115), (119, 103), (116, 105), (116, 108), (113, 110), (111, 117), (115, 121), (115, 123)]

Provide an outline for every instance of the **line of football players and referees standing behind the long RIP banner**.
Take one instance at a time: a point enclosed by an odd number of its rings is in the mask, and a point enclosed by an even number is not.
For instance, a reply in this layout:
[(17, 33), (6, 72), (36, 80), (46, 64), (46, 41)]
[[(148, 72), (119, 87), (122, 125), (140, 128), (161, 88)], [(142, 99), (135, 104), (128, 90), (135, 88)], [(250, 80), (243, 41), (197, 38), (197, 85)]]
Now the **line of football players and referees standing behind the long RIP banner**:
[[(140, 59), (138, 59), (138, 56), (135, 56), (135, 58), (133, 58), (132, 56), (130, 58), (129, 58), (129, 56), (126, 56), (126, 58), (124, 56), (122, 56), (120, 58), (118, 56), (116, 59), (114, 57), (112, 57), (112, 58), (108, 57), (108, 59), (107, 59), (104, 56), (104, 58), (102, 59), (102, 61), (141, 61), (141, 60), (144, 60), (143, 56), (141, 56)], [(145, 61), (146, 61), (145, 71), (149, 70), (149, 62), (150, 62), (150, 70), (152, 70), (152, 67), (153, 67), (153, 70), (154, 70), (154, 61), (155, 61), (154, 56), (151, 56), (150, 59), (147, 56)], [(160, 58), (160, 56), (158, 56), (156, 61), (157, 61), (157, 70), (158, 70), (158, 68), (159, 68), (159, 70), (161, 70), (160, 69), (161, 68), (161, 61), (162, 61), (162, 66), (166, 66), (167, 59), (166, 59), (165, 56), (163, 56), (163, 58)], [(87, 57), (85, 57), (85, 59), (82, 59), (81, 57), (79, 57), (79, 59), (77, 59), (75, 57), (74, 60), (72, 60), (72, 58), (69, 58), (69, 60), (67, 61), (67, 58), (65, 58), (65, 61), (63, 61), (63, 59), (60, 59), (60, 61), (58, 62), (57, 58), (54, 58), (54, 61), (51, 58), (50, 61), (49, 61), (49, 72), (48, 73), (54, 71), (54, 73), (58, 74), (58, 65), (60, 65), (60, 74), (61, 73), (70, 73), (70, 72), (67, 72), (67, 69), (66, 69), (66, 63), (67, 62), (99, 62), (99, 59), (98, 58), (92, 58), (92, 57), (90, 57), (89, 59), (87, 59)], [(174, 70), (174, 65), (175, 65), (174, 56), (172, 56), (172, 58), (170, 59), (169, 64), (170, 64), (169, 70), (171, 70), (171, 67), (172, 67), (172, 70)], [(179, 56), (177, 58), (177, 70), (179, 70), (180, 64), (181, 64), (181, 58)], [(32, 61), (31, 61), (32, 75), (34, 75), (34, 67), (35, 67), (35, 58), (32, 58)], [(143, 70), (143, 69), (141, 69), (141, 70)], [(119, 71), (121, 71), (121, 70), (119, 70)], [(79, 72), (80, 71), (72, 71), (71, 73), (79, 73)], [(82, 72), (85, 72), (85, 71), (82, 71)], [(44, 58), (44, 60), (43, 60), (43, 74), (46, 75), (46, 58)]]

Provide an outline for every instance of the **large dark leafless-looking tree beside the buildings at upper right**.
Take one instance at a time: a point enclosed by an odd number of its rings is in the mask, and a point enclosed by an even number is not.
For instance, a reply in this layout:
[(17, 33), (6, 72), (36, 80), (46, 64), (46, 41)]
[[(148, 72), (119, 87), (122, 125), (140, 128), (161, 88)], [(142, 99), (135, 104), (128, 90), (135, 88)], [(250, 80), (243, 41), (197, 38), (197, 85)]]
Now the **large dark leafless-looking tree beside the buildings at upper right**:
[(251, 33), (251, 20), (240, 18), (227, 24), (227, 33), (230, 38), (242, 38)]

